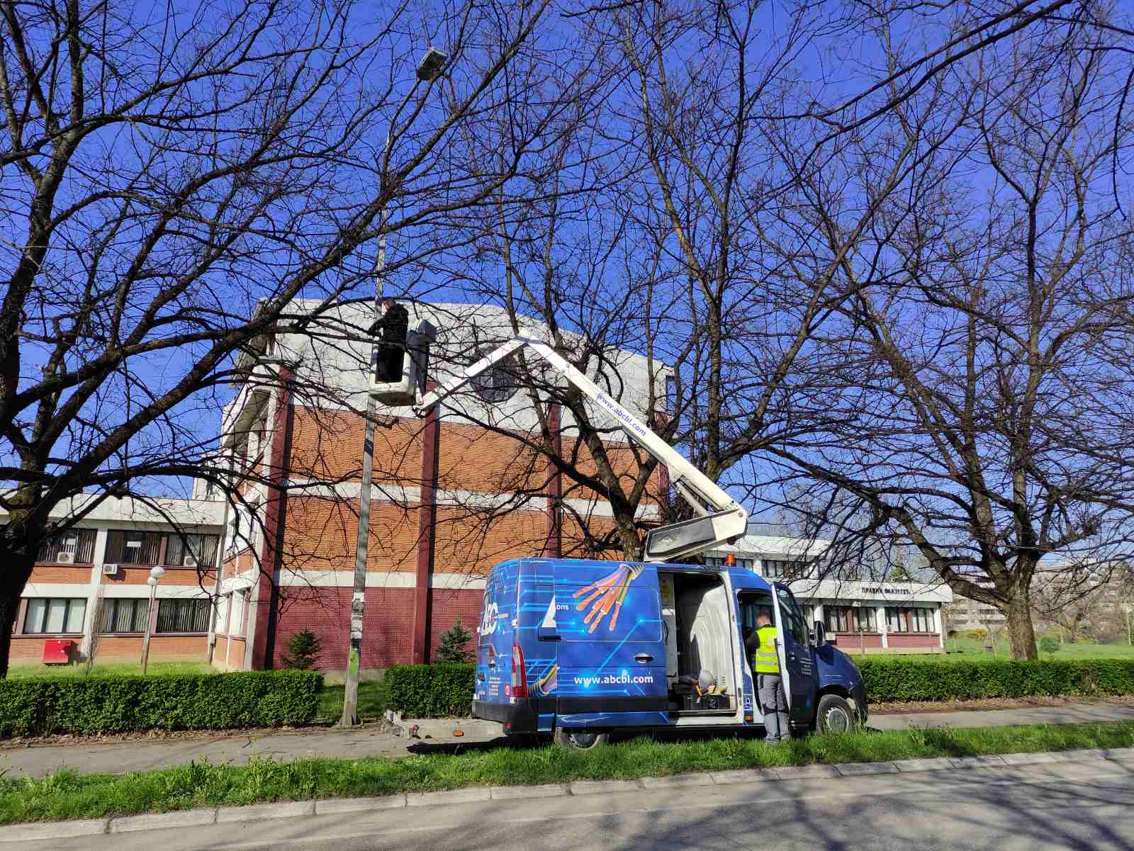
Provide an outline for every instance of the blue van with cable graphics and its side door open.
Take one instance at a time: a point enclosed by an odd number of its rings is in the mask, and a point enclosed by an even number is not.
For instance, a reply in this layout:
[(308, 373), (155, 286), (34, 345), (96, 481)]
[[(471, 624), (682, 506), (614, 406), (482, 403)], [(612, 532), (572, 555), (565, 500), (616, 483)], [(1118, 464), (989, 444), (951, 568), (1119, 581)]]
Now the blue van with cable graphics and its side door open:
[(489, 575), (473, 715), (575, 748), (615, 730), (761, 727), (744, 639), (758, 613), (781, 636), (794, 731), (866, 720), (858, 667), (809, 635), (787, 586), (748, 569), (516, 559)]

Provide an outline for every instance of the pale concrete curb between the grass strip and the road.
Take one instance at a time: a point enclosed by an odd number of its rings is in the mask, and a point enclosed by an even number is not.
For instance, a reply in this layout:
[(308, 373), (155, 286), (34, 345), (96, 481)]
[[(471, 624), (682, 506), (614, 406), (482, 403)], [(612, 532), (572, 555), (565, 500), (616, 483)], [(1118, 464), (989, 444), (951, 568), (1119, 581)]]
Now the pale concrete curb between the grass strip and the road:
[(115, 816), (74, 822), (32, 822), (8, 825), (0, 831), (0, 845), (35, 840), (64, 840), (110, 833), (159, 831), (196, 827), (223, 823), (262, 822), (273, 818), (301, 818), (359, 812), (378, 809), (403, 809), (447, 803), (473, 803), (522, 798), (557, 798), (562, 795), (612, 794), (650, 789), (686, 789), (747, 782), (778, 782), (831, 777), (862, 777), (873, 774), (907, 774), (911, 772), (964, 771), (973, 768), (1009, 768), (1022, 765), (1052, 765), (1089, 759), (1134, 761), (1134, 748), (1090, 748), (1036, 754), (1001, 754), (984, 757), (932, 757), (899, 759), (888, 763), (841, 763), (835, 765), (785, 766), (781, 768), (741, 768), (723, 772), (699, 772), (640, 780), (579, 780), (573, 783), (549, 783), (536, 786), (466, 786), (443, 792), (411, 792), (373, 798), (328, 798), (286, 803), (254, 803), (247, 807), (210, 807), (204, 809), (150, 812), (138, 816)]

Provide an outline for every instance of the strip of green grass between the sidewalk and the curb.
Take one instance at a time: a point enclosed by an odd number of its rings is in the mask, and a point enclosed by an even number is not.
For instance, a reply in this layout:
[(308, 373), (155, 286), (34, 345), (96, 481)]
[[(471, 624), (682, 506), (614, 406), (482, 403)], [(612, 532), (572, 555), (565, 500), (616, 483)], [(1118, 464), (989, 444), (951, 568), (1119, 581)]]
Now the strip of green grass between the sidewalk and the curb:
[(43, 780), (0, 778), (0, 824), (98, 818), (204, 806), (635, 778), (694, 771), (979, 756), (1134, 746), (1134, 722), (904, 730), (813, 735), (773, 746), (755, 739), (641, 738), (591, 752), (544, 746), (403, 759), (254, 758), (246, 766), (191, 763), (127, 775), (60, 769)]

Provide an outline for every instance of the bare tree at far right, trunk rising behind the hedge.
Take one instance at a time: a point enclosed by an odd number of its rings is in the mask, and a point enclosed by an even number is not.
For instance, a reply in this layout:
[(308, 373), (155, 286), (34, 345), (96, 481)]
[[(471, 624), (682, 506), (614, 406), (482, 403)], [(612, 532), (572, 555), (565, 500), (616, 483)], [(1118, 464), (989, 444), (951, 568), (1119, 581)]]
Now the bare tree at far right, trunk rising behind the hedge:
[[(840, 424), (781, 449), (840, 516), (915, 546), (1035, 658), (1041, 559), (1107, 558), (1134, 529), (1131, 224), (1110, 192), (1131, 122), (1114, 40), (1068, 24), (958, 63), (949, 156), (924, 146), (844, 264), (856, 284), (813, 403)], [(968, 118), (971, 116), (971, 119)], [(900, 117), (899, 117), (900, 118)]]

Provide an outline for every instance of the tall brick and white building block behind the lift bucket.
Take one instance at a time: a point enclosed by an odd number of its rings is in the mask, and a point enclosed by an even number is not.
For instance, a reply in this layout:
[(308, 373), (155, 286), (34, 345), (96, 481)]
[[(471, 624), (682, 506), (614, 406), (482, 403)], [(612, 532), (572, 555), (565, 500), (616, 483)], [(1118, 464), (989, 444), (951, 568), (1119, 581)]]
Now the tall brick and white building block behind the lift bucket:
[[(511, 335), (493, 308), (411, 309), (412, 326), (426, 318), (438, 327), (431, 376), (438, 381), (469, 361), (471, 329), (481, 341), (474, 351)], [(364, 314), (356, 324), (366, 324)], [(271, 363), (254, 366), (253, 381), (223, 423), (235, 475), (247, 486), (245, 504), (229, 512), (214, 665), (278, 667), (291, 636), (311, 629), (322, 638), (320, 667), (333, 674), (347, 657), (364, 437), (357, 411), (365, 408), (367, 348), (311, 348), (278, 338), (265, 342), (264, 357)], [(629, 354), (616, 359), (620, 400), (646, 416), (655, 403), (648, 363)], [(327, 392), (313, 393), (313, 385)], [(548, 414), (564, 420), (561, 457), (575, 457), (581, 448), (570, 422), (556, 408)], [(522, 388), (489, 375), (426, 418), (407, 408), (380, 408), (379, 416), (364, 672), (429, 661), (457, 619), (472, 629), (484, 576), (500, 561), (603, 558), (586, 550), (584, 530), (591, 538), (609, 531), (610, 505), (516, 439), (538, 423)], [(620, 471), (636, 469), (628, 446), (617, 439), (606, 445)], [(583, 469), (593, 469), (585, 451), (577, 457)], [(663, 491), (655, 471), (640, 510), (646, 521), (657, 517)]]

